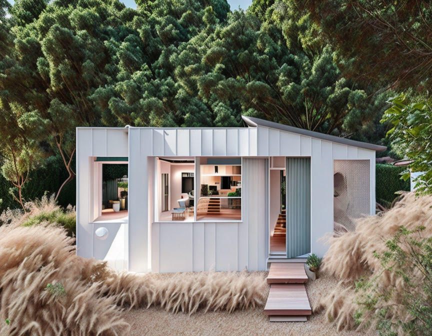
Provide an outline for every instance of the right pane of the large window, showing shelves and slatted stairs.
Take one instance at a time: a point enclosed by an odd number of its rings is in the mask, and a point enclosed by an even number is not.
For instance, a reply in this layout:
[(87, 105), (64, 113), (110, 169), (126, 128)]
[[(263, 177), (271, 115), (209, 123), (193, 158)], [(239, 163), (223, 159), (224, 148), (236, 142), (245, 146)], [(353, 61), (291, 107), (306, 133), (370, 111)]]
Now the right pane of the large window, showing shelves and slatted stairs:
[(241, 220), (241, 158), (200, 157), (196, 220)]

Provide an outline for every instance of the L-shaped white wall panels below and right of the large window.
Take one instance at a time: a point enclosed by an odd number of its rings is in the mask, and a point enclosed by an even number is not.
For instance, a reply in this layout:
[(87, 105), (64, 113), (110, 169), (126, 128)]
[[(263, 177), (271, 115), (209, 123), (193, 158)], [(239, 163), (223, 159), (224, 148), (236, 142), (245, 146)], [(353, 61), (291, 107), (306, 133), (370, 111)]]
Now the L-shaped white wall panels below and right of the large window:
[(242, 161), (242, 221), (153, 222), (152, 271), (265, 270), (267, 160)]

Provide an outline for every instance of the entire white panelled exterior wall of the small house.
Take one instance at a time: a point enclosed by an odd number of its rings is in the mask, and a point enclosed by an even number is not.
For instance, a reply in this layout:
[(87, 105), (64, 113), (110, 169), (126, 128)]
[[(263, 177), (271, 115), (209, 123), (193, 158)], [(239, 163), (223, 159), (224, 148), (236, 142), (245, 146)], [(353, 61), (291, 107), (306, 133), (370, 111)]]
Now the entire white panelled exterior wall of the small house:
[[(317, 240), (333, 228), (334, 159), (370, 160), (370, 213), (374, 212), (373, 150), (263, 126), (215, 129), (129, 127), (128, 130), (77, 128), (76, 155), (77, 253), (106, 259), (113, 255), (112, 249), (117, 248), (123, 251), (118, 255), (125, 254), (124, 264), (130, 271), (208, 270), (211, 266), (216, 270), (241, 270), (244, 266), (249, 270), (265, 269), (269, 217), (268, 188), (265, 187), (268, 171), (265, 169), (268, 165), (257, 163), (267, 162), (262, 159), (249, 161), (247, 157), (311, 157), (313, 253), (321, 256), (325, 253), (327, 246)], [(104, 223), (110, 232), (106, 240), (95, 240), (94, 230), (100, 223), (93, 224), (90, 218), (90, 203), (94, 201), (90, 199), (90, 192), (97, 187), (97, 184), (89, 187), (94, 171), (90, 164), (92, 156), (129, 157), (128, 222), (121, 225)], [(155, 156), (242, 156), (243, 172), (249, 171), (242, 177), (242, 221), (154, 222), (160, 206), (153, 202), (159, 190), (154, 174), (157, 169)], [(199, 165), (195, 167), (195, 184), (197, 189)], [(256, 190), (247, 192), (247, 188), (253, 188), (253, 185)], [(121, 241), (123, 246), (120, 246)]]

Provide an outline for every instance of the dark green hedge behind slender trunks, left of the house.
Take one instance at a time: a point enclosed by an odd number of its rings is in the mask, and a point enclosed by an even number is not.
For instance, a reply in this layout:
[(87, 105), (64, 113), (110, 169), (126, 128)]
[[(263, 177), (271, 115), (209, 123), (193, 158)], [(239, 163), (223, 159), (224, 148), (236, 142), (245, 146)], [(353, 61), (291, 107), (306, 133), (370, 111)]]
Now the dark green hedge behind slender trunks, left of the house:
[[(75, 166), (74, 161), (72, 166)], [(60, 185), (67, 178), (68, 174), (64, 168), (60, 156), (50, 156), (44, 160), (43, 166), (33, 170), (29, 174), (28, 181), (22, 188), (22, 195), (25, 200), (40, 198), (45, 191), (48, 195), (57, 192)], [(16, 208), (19, 204), (9, 193), (12, 184), (0, 173), (0, 212), (7, 207)], [(68, 204), (75, 205), (76, 202), (76, 179), (67, 183), (61, 190), (58, 197), (58, 204), (66, 207)]]

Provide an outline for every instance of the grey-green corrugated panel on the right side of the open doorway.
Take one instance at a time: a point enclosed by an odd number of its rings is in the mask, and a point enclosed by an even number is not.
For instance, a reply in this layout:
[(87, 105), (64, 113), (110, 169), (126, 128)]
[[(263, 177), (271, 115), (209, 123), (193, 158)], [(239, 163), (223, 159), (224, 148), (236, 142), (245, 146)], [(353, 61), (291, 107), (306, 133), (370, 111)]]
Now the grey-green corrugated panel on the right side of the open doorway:
[(310, 158), (286, 158), (286, 257), (310, 252)]

